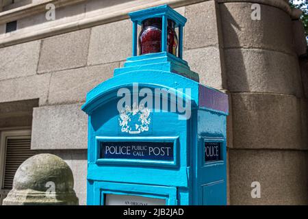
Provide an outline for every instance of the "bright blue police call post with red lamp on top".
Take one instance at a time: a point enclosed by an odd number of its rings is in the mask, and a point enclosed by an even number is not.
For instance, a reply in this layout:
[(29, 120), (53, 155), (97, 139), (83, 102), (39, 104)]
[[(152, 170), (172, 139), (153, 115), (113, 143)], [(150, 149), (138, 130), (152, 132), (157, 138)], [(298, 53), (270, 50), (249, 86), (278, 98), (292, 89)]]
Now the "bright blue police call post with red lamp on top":
[(129, 16), (132, 56), (82, 106), (88, 205), (226, 205), (227, 94), (182, 59), (185, 17), (168, 5)]

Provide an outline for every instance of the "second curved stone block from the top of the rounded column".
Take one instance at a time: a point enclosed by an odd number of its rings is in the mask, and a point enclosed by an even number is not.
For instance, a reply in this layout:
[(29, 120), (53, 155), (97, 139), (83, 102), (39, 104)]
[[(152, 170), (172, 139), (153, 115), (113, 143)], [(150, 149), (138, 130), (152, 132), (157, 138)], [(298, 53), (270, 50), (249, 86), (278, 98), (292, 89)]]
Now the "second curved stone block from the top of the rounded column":
[(224, 51), (228, 90), (303, 94), (295, 56), (261, 49)]

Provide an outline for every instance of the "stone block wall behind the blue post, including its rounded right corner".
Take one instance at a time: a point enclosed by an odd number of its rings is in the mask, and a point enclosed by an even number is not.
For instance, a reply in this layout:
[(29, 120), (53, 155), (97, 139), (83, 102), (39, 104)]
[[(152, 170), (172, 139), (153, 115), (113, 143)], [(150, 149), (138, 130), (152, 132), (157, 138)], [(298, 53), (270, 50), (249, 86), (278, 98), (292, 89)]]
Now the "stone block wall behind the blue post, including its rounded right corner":
[[(261, 4), (260, 21), (251, 20), (252, 2)], [(183, 58), (201, 83), (230, 96), (231, 205), (308, 204), (307, 99), (296, 21), (285, 2), (187, 1), (177, 8), (188, 18)], [(0, 49), (0, 108), (37, 100), (28, 124), (32, 148), (66, 160), (80, 204), (86, 204), (87, 166), (87, 116), (80, 107), (88, 90), (112, 77), (130, 55), (129, 20)], [(307, 67), (301, 66), (303, 74)], [(0, 116), (0, 128), (14, 122), (5, 119)], [(261, 183), (261, 198), (251, 198), (253, 181)]]

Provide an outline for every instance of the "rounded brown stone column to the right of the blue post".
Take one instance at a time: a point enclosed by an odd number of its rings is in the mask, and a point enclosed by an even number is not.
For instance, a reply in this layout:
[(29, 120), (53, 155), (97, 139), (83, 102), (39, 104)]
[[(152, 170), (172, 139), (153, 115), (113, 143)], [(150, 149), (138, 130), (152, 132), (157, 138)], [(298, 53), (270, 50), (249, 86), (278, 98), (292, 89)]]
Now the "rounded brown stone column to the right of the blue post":
[[(218, 8), (232, 103), (230, 203), (307, 205), (307, 102), (292, 10), (287, 0), (218, 0)], [(251, 196), (253, 181), (260, 198)]]

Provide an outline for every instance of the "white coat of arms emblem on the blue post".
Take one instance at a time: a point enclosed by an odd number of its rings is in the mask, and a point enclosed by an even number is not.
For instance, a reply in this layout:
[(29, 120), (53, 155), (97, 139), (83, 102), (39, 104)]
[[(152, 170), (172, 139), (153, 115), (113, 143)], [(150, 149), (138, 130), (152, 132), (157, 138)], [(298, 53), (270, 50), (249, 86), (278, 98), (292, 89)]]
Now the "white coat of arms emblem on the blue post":
[(144, 105), (139, 105), (139, 107), (136, 103), (133, 103), (133, 107), (126, 105), (120, 112), (120, 118), (118, 118), (121, 131), (130, 134), (149, 131), (150, 113), (150, 110)]

